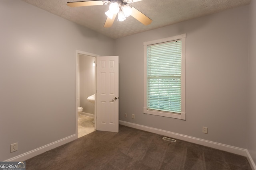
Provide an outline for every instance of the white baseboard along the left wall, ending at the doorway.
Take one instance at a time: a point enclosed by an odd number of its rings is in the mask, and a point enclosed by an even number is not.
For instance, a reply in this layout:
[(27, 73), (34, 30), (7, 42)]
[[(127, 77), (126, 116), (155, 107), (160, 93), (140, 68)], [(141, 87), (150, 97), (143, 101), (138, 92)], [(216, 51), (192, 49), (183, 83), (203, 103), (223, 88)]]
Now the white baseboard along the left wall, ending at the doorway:
[(46, 151), (48, 151), (48, 150), (54, 149), (54, 148), (56, 148), (56, 147), (59, 147), (59, 146), (61, 146), (61, 145), (64, 145), (64, 144), (66, 144), (66, 143), (69, 143), (69, 142), (71, 142), (71, 141), (74, 141), (75, 139), (77, 139), (76, 134), (71, 135), (71, 136), (69, 136), (69, 137), (66, 137), (66, 138), (64, 138), (64, 139), (60, 139), (60, 140), (58, 140), (58, 141), (55, 141), (55, 142), (50, 143), (50, 144), (48, 144), (48, 145), (45, 145), (45, 146), (43, 146), (43, 147), (40, 147), (40, 148), (31, 150), (31, 151), (26, 152), (26, 153), (24, 153), (24, 154), (20, 154), (20, 155), (18, 155), (18, 156), (15, 156), (15, 157), (10, 158), (10, 159), (5, 160), (5, 161), (8, 161), (8, 162), (10, 162), (10, 161), (25, 161), (25, 160), (27, 160), (27, 159), (29, 159), (29, 158), (32, 158), (32, 157), (34, 157), (34, 156), (36, 156), (36, 155), (39, 155), (39, 154), (41, 154), (41, 153), (44, 153), (44, 152), (46, 152)]

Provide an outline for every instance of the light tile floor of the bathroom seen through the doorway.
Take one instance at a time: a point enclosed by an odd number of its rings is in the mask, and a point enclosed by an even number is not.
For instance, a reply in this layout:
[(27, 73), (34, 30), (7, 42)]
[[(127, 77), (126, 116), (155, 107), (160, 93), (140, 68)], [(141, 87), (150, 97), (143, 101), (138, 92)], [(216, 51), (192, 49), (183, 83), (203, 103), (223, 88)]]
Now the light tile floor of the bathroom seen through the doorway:
[(92, 123), (93, 120), (94, 118), (92, 117), (80, 115), (78, 120), (78, 138), (95, 131), (94, 123)]

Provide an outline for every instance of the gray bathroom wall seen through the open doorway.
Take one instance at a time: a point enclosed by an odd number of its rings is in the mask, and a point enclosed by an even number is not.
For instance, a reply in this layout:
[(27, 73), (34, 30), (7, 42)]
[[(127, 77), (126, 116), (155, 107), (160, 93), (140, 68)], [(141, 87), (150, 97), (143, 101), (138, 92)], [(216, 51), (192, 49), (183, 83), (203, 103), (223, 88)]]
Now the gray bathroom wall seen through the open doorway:
[(94, 57), (79, 55), (80, 70), (80, 106), (83, 112), (94, 114), (94, 104), (87, 100), (95, 93)]

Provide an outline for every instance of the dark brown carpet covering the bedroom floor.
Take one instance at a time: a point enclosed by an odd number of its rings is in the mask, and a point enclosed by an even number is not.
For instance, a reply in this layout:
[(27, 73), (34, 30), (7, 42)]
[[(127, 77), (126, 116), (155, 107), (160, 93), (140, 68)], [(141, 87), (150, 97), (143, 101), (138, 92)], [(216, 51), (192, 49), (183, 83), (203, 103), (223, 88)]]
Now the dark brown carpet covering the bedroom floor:
[(26, 170), (251, 170), (246, 157), (119, 126), (26, 160)]

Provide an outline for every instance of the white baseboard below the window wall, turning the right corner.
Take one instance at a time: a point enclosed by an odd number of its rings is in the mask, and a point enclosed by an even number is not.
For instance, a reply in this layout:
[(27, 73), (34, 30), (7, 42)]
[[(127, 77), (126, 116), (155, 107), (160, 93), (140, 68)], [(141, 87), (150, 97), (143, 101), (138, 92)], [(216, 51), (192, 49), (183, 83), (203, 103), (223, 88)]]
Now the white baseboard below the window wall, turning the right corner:
[(242, 155), (242, 156), (246, 156), (250, 165), (251, 165), (251, 168), (253, 170), (256, 170), (255, 163), (252, 160), (252, 157), (250, 156), (250, 153), (248, 152), (247, 149), (242, 149), (242, 148), (233, 147), (233, 146), (230, 146), (230, 145), (225, 145), (225, 144), (222, 144), (222, 143), (207, 141), (207, 140), (204, 140), (204, 139), (199, 139), (199, 138), (196, 138), (196, 137), (190, 137), (190, 136), (187, 136), (187, 135), (182, 135), (182, 134), (179, 134), (179, 133), (165, 131), (165, 130), (162, 130), (162, 129), (156, 129), (156, 128), (148, 127), (148, 126), (144, 126), (144, 125), (138, 125), (138, 124), (130, 123), (130, 122), (127, 122), (127, 121), (119, 120), (119, 124), (124, 125), (124, 126), (128, 126), (128, 127), (132, 127), (132, 128), (135, 128), (135, 129), (140, 129), (140, 130), (143, 130), (143, 131), (156, 133), (156, 134), (159, 134), (159, 135), (164, 135), (166, 137), (172, 137), (172, 138), (175, 138), (175, 139), (180, 139), (182, 141), (196, 143), (198, 145), (203, 145), (203, 146), (206, 146), (206, 147), (211, 147), (211, 148), (214, 148), (214, 149), (224, 150), (226, 152), (231, 152), (231, 153), (234, 153), (234, 154), (239, 154), (239, 155)]

